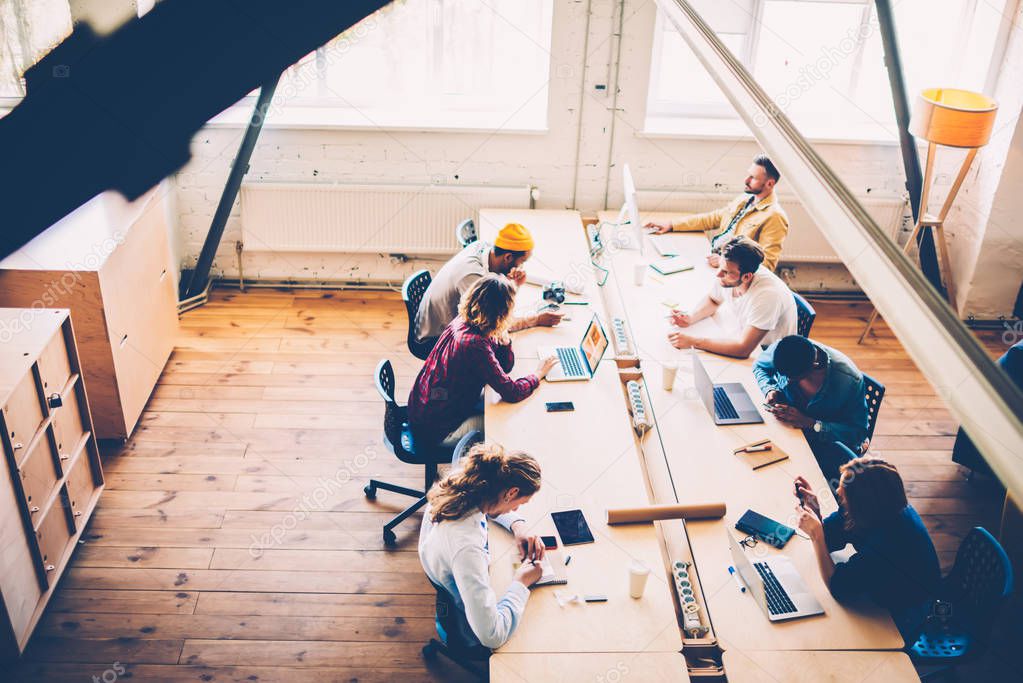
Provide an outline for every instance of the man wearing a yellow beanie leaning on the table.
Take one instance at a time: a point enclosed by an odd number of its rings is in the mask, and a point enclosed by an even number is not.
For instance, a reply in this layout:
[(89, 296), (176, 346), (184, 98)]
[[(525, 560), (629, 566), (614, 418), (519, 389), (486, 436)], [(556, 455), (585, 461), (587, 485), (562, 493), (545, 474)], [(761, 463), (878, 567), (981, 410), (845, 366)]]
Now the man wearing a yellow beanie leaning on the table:
[[(487, 273), (506, 275), (521, 286), (526, 281), (523, 264), (532, 255), (533, 235), (518, 223), (501, 228), (493, 244), (481, 240), (463, 248), (437, 271), (422, 295), (415, 319), (416, 336), (420, 342), (440, 336), (458, 315), (461, 294)], [(511, 323), (511, 331), (536, 325), (551, 327), (561, 320), (561, 313), (550, 311), (517, 317)]]

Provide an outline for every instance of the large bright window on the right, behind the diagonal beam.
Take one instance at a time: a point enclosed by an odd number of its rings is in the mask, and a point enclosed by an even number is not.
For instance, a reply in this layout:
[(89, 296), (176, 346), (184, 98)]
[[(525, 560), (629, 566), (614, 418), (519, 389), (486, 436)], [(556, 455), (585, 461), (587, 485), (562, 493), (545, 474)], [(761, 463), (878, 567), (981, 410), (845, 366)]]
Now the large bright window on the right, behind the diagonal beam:
[[(698, 0), (696, 5), (805, 135), (896, 138), (872, 0)], [(1005, 0), (893, 3), (910, 101), (935, 85), (985, 88), (992, 59), (999, 56), (1005, 5)], [(731, 106), (660, 13), (653, 56), (649, 131), (741, 132)]]

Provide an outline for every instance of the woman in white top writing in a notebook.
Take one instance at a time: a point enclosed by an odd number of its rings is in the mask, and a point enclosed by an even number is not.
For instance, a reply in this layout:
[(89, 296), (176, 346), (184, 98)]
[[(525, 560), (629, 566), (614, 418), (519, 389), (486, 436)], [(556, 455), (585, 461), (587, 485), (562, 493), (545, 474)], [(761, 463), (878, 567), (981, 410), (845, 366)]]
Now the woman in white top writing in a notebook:
[[(427, 576), (454, 597), (480, 643), (490, 649), (511, 637), (542, 576), (543, 543), (525, 532), (515, 511), (540, 489), (540, 465), (525, 453), (478, 444), (427, 495), (419, 561)], [(498, 600), (490, 587), (488, 517), (515, 534), (523, 563)]]

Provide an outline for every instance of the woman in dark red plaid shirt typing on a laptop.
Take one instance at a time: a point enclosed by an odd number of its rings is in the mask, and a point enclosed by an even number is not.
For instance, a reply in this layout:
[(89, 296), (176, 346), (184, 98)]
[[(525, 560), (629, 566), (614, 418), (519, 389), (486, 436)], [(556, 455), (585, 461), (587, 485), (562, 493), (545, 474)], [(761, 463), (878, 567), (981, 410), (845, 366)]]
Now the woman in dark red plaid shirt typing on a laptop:
[(540, 361), (536, 372), (513, 379), (508, 325), (517, 287), (503, 275), (480, 278), (462, 295), (458, 317), (444, 329), (408, 396), (408, 421), (417, 449), (453, 447), (473, 429), (483, 429), (481, 394), (491, 386), (518, 403), (532, 394), (558, 362)]

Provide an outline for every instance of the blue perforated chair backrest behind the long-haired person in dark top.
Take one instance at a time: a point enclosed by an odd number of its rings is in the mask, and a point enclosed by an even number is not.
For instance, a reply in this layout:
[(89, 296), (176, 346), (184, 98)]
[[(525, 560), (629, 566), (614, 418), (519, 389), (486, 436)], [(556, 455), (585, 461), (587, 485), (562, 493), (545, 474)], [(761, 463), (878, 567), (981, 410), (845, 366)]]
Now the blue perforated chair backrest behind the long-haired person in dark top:
[(1013, 590), (1013, 565), (986, 529), (974, 527), (963, 539), (943, 588), (942, 597), (952, 603), (953, 619), (962, 616), (975, 628), (990, 627), (997, 608)]

